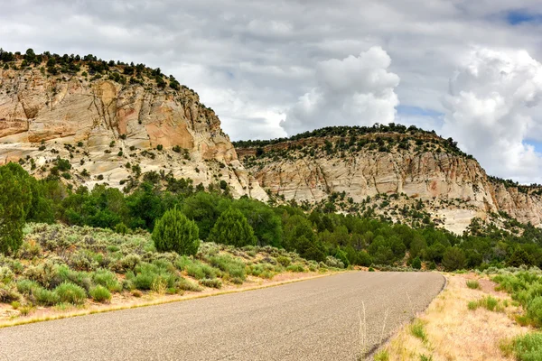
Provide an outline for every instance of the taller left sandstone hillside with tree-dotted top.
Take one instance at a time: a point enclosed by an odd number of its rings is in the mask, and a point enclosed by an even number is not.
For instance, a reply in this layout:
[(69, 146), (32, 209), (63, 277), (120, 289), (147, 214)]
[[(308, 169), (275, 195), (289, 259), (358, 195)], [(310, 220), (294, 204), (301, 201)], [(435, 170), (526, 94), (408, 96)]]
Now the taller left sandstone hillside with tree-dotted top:
[(0, 164), (74, 186), (131, 189), (155, 171), (266, 199), (214, 111), (144, 64), (0, 51), (0, 143)]

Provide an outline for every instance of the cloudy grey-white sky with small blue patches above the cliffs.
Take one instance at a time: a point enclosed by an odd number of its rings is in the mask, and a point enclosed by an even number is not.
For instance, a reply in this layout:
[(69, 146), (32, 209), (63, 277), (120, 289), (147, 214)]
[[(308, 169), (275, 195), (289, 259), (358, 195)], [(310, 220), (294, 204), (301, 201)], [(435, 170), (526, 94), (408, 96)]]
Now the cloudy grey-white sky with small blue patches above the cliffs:
[(143, 62), (232, 140), (416, 125), (542, 183), (539, 0), (0, 0), (0, 47)]

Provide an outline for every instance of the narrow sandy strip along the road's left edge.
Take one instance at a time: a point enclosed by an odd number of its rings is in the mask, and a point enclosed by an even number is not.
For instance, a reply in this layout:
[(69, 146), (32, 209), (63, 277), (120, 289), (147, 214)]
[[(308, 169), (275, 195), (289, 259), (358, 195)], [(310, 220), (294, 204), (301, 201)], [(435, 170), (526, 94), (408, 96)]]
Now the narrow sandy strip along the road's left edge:
[(28, 325), (28, 324), (31, 324), (31, 323), (45, 322), (45, 321), (50, 321), (50, 320), (55, 320), (55, 319), (71, 319), (71, 318), (75, 318), (75, 317), (89, 316), (89, 315), (93, 315), (93, 314), (96, 314), (96, 313), (112, 312), (112, 311), (116, 311), (116, 310), (139, 309), (139, 308), (142, 308), (142, 307), (158, 306), (158, 305), (173, 303), (173, 302), (182, 302), (182, 301), (204, 299), (204, 298), (208, 298), (208, 297), (220, 296), (220, 295), (230, 294), (230, 293), (256, 291), (256, 290), (262, 290), (262, 289), (276, 287), (276, 286), (282, 286), (282, 285), (288, 284), (288, 283), (309, 281), (309, 280), (314, 280), (314, 279), (317, 279), (317, 278), (329, 277), (329, 276), (336, 275), (336, 274), (350, 273), (350, 272), (362, 272), (362, 271), (345, 270), (345, 271), (338, 271), (338, 272), (333, 272), (333, 273), (317, 274), (317, 275), (313, 275), (313, 276), (310, 276), (310, 277), (304, 277), (304, 278), (296, 278), (294, 280), (278, 281), (276, 283), (271, 283), (271, 284), (260, 284), (260, 285), (256, 285), (256, 286), (250, 286), (250, 287), (247, 287), (247, 288), (239, 288), (239, 289), (226, 290), (226, 291), (220, 291), (220, 292), (211, 292), (211, 293), (206, 293), (206, 294), (194, 293), (192, 295), (189, 295), (188, 297), (179, 296), (179, 298), (166, 299), (166, 300), (154, 300), (154, 301), (138, 303), (138, 304), (135, 304), (135, 305), (117, 305), (117, 306), (111, 306), (109, 308), (104, 308), (104, 309), (100, 309), (100, 310), (80, 310), (80, 311), (74, 311), (73, 313), (64, 313), (64, 314), (61, 313), (61, 314), (58, 314), (58, 315), (37, 317), (35, 319), (20, 319), (18, 321), (14, 321), (14, 322), (7, 321), (4, 324), (0, 324), (0, 329), (10, 328), (10, 327), (14, 327), (14, 326)]

